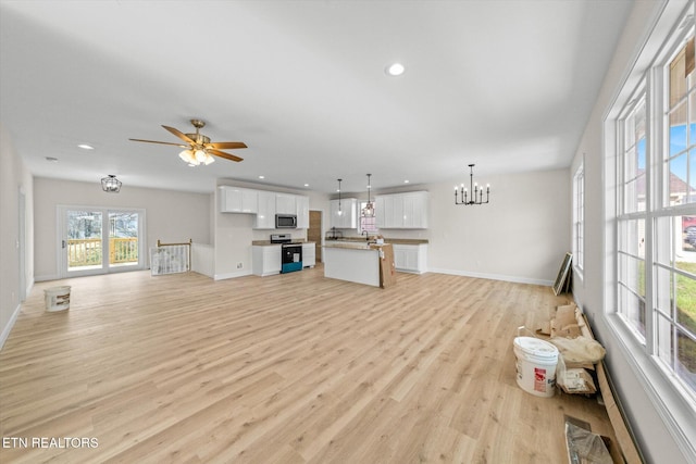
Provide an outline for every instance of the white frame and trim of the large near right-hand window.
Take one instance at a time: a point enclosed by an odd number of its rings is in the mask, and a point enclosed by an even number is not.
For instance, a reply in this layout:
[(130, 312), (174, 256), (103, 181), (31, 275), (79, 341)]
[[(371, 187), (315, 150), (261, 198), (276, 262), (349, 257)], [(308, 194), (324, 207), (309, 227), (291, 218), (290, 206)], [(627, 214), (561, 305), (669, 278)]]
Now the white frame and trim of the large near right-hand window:
[[(680, 27), (687, 15), (692, 15), (688, 27)], [(696, 401), (694, 392), (684, 387), (680, 379), (671, 372), (659, 358), (659, 347), (656, 343), (657, 314), (654, 311), (656, 289), (652, 280), (656, 279), (654, 267), (655, 254), (660, 247), (652, 249), (652, 240), (659, 236), (656, 224), (659, 218), (670, 214), (671, 206), (662, 206), (663, 186), (663, 160), (661, 153), (666, 138), (662, 125), (663, 99), (666, 98), (662, 85), (664, 64), (669, 63), (678, 48), (678, 43), (693, 34), (694, 0), (672, 0), (666, 2), (656, 23), (646, 36), (645, 43), (638, 49), (638, 54), (632, 68), (625, 74), (623, 85), (618, 88), (614, 99), (608, 109), (604, 120), (604, 165), (602, 178), (605, 183), (604, 198), (604, 308), (605, 322), (617, 337), (617, 348), (621, 349), (623, 358), (635, 373), (644, 391), (655, 404), (667, 428), (675, 439), (684, 455), (696, 455)], [(691, 32), (689, 32), (691, 30)], [(646, 71), (647, 70), (647, 71)], [(619, 226), (622, 217), (622, 177), (620, 158), (622, 153), (622, 127), (621, 117), (634, 103), (634, 99), (641, 89), (642, 81), (646, 85), (647, 98), (647, 127), (648, 133), (646, 151), (646, 212), (632, 212), (636, 217), (645, 217), (646, 237), (646, 301), (649, 309), (646, 311), (646, 337), (642, 339), (636, 330), (625, 323), (619, 309)], [(651, 152), (659, 156), (651, 156)], [(657, 158), (657, 160), (656, 160)], [(651, 195), (652, 192), (652, 195)], [(656, 205), (660, 208), (655, 208)], [(694, 211), (695, 204), (682, 206), (680, 214)], [(624, 215), (624, 220), (630, 218)], [(659, 243), (657, 243), (659, 244)], [(614, 259), (611, 259), (614, 256)]]

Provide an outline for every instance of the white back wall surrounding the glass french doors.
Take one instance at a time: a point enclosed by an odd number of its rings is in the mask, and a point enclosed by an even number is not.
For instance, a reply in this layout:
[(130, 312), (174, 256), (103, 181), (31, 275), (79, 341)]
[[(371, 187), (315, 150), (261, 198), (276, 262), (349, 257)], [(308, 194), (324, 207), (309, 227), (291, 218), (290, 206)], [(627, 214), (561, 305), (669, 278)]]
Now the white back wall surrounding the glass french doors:
[(123, 185), (121, 192), (101, 190), (95, 183), (34, 179), (35, 196), (35, 251), (36, 280), (59, 277), (58, 205), (85, 205), (104, 208), (133, 208), (146, 210), (146, 242), (148, 249), (163, 242), (183, 242), (192, 239), (197, 243), (211, 243), (210, 202), (208, 193), (158, 190)]

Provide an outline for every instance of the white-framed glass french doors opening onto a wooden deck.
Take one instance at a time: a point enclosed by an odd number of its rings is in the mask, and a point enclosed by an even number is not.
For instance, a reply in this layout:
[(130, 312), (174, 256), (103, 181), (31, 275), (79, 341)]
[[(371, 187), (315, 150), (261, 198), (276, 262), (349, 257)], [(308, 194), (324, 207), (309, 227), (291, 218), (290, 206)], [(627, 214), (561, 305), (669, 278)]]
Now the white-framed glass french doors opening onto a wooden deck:
[(145, 211), (59, 206), (61, 277), (145, 268)]

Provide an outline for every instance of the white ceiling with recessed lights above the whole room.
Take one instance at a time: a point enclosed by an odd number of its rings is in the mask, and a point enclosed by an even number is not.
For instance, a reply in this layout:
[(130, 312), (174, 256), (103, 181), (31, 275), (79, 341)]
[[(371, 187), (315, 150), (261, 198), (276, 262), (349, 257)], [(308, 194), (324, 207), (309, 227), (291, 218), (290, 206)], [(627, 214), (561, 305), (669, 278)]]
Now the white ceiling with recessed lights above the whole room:
[[(0, 0), (0, 122), (36, 176), (324, 192), (567, 167), (632, 1)], [(406, 73), (389, 77), (399, 61)], [(245, 159), (188, 167), (161, 125)], [(85, 151), (78, 143), (96, 149)], [(48, 162), (46, 156), (59, 159)], [(309, 187), (303, 187), (309, 184)]]

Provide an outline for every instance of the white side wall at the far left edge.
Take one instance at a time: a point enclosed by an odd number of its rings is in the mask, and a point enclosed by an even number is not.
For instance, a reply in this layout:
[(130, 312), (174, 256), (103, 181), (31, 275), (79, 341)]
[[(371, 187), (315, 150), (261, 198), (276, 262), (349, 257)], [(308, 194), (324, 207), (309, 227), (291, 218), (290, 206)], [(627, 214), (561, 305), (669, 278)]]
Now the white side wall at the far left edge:
[[(20, 236), (20, 196), (25, 201), (25, 234)], [(21, 288), (28, 293), (34, 284), (33, 179), (17, 156), (10, 134), (0, 124), (0, 348), (20, 314)], [(20, 248), (24, 242), (25, 272), (20, 272)]]

